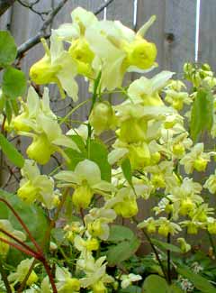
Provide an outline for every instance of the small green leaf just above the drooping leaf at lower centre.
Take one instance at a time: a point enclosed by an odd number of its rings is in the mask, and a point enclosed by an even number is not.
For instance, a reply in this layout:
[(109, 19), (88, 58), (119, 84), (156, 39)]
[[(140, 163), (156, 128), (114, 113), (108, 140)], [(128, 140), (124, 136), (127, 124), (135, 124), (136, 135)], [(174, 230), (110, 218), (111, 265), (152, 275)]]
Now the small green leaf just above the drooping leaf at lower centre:
[(110, 235), (107, 241), (118, 243), (124, 240), (130, 240), (134, 237), (134, 233), (130, 228), (120, 224), (113, 224), (110, 227)]

